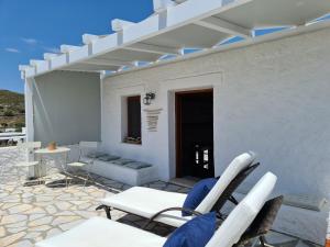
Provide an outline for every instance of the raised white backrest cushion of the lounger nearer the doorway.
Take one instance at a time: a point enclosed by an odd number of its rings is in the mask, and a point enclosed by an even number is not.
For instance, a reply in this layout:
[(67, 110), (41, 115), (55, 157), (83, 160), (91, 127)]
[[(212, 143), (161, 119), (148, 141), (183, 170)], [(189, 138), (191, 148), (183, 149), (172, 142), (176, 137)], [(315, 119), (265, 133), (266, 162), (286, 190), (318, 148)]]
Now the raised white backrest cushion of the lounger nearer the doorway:
[(224, 172), (221, 175), (212, 190), (197, 206), (196, 211), (202, 214), (210, 212), (210, 210), (213, 207), (217, 200), (223, 193), (229, 183), (237, 177), (238, 173), (240, 173), (240, 171), (242, 171), (249, 165), (251, 165), (254, 161), (254, 159), (255, 155), (253, 153), (244, 153), (235, 157), (224, 170)]

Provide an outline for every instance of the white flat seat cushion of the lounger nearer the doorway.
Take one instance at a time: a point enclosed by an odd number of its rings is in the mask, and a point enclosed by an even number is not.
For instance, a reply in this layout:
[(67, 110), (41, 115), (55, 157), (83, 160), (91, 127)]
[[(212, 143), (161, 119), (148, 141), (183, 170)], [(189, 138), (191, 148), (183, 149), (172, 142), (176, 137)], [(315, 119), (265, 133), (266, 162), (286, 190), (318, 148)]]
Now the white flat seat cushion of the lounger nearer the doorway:
[[(150, 218), (164, 209), (183, 206), (186, 198), (187, 194), (133, 187), (121, 193), (102, 199), (101, 203)], [(180, 226), (189, 220), (191, 217), (183, 217), (180, 211), (170, 211), (164, 213), (156, 221), (173, 226)]]

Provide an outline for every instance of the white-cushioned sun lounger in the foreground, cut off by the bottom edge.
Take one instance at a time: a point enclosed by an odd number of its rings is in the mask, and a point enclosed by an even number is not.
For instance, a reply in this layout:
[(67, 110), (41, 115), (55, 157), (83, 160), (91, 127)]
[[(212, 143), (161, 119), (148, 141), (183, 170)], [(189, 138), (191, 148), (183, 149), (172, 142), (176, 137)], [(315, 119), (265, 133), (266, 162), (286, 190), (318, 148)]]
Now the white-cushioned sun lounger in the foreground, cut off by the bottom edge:
[[(262, 210), (272, 193), (276, 176), (266, 173), (230, 213), (206, 247), (232, 247)], [(163, 247), (166, 238), (122, 223), (94, 217), (36, 247)]]

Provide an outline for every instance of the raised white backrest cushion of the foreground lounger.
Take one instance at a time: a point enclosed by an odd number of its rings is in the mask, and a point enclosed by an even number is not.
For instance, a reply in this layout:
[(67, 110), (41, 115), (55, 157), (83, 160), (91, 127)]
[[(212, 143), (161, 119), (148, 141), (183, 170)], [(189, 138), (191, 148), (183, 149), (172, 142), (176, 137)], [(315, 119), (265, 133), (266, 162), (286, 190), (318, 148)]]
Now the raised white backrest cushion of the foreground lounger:
[(229, 214), (206, 247), (230, 247), (237, 244), (267, 201), (276, 180), (272, 172), (264, 175)]

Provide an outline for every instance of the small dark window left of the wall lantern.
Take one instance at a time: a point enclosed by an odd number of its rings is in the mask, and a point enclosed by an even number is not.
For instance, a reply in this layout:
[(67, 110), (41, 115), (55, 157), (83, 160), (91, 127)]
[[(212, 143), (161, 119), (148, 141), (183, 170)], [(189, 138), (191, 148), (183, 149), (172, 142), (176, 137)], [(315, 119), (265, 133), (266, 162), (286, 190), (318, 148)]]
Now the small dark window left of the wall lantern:
[(128, 136), (125, 143), (141, 144), (141, 97), (128, 97)]

